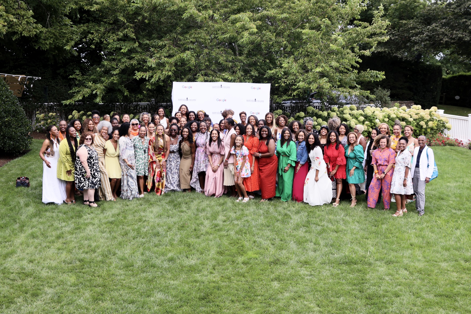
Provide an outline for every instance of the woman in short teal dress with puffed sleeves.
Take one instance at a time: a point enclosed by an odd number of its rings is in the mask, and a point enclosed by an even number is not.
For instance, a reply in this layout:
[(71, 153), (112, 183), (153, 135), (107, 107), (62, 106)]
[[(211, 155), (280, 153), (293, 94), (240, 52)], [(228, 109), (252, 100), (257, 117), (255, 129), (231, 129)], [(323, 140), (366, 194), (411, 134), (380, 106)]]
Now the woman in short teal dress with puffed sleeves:
[(365, 153), (363, 146), (357, 144), (357, 133), (350, 132), (347, 136), (348, 144), (345, 145), (345, 158), (347, 159), (347, 182), (349, 183), (352, 203), (350, 207), (357, 205), (355, 184), (365, 182), (365, 171), (363, 171), (363, 159)]

